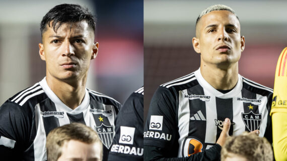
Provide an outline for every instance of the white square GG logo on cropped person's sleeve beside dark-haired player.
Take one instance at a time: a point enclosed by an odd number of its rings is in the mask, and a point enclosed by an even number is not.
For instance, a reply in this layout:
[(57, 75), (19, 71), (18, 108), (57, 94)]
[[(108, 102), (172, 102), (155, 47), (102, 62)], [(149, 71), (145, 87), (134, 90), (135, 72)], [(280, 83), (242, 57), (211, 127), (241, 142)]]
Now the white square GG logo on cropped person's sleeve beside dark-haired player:
[(120, 126), (119, 143), (133, 144), (134, 127)]

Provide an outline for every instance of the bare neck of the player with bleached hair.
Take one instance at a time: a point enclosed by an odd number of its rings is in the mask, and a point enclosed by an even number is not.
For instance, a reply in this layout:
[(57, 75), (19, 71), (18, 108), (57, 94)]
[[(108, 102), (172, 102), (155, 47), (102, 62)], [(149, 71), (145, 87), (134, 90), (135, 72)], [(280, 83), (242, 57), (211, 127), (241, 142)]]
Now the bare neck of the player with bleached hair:
[(229, 90), (235, 87), (238, 81), (238, 63), (228, 68), (219, 68), (216, 65), (200, 64), (202, 77), (215, 89)]

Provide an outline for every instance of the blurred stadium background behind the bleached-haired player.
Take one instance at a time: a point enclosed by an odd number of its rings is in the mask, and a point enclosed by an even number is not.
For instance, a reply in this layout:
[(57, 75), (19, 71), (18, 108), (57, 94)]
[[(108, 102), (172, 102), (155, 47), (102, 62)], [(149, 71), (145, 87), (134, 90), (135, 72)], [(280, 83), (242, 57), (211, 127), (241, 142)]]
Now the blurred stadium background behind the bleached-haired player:
[(145, 0), (145, 116), (159, 85), (199, 68), (200, 56), (191, 44), (195, 22), (202, 10), (217, 4), (231, 7), (240, 19), (245, 50), (239, 73), (273, 88), (277, 60), (287, 46), (286, 1)]

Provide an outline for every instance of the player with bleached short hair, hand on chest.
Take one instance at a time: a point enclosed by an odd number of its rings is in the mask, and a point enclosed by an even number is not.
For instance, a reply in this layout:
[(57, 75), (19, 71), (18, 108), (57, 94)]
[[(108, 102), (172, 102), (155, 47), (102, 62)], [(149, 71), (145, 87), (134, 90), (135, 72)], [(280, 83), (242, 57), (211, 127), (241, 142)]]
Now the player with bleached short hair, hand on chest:
[[(198, 16), (192, 44), (200, 68), (155, 92), (143, 133), (145, 160), (219, 160), (226, 136), (244, 131), (272, 142), (273, 91), (239, 75), (245, 47), (240, 31), (238, 17), (225, 5)], [(223, 133), (226, 123), (230, 129)]]

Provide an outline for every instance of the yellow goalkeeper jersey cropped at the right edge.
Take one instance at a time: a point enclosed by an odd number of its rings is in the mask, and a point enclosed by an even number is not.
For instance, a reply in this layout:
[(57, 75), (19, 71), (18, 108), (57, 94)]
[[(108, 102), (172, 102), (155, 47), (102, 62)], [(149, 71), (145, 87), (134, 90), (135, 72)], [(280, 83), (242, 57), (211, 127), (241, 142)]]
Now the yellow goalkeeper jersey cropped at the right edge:
[(270, 115), (275, 159), (287, 160), (287, 47), (277, 62)]

